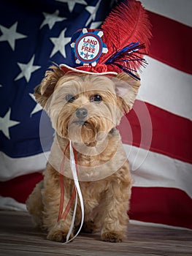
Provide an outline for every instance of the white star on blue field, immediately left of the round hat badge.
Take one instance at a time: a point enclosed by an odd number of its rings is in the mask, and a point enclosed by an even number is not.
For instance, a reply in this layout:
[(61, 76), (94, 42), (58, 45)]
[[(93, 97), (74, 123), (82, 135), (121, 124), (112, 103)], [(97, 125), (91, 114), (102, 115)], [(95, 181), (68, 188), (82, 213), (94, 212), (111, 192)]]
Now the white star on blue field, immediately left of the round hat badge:
[(61, 34), (58, 37), (50, 37), (50, 40), (54, 44), (54, 48), (50, 53), (50, 58), (57, 53), (58, 51), (66, 58), (65, 46), (71, 42), (71, 37), (65, 37), (66, 29), (61, 31)]

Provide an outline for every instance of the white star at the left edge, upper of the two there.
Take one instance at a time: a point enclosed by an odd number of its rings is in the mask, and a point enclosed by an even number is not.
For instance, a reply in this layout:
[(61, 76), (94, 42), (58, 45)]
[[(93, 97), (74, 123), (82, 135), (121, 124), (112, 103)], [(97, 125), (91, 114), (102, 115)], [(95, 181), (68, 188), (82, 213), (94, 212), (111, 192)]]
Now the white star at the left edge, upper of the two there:
[(2, 32), (0, 42), (7, 41), (12, 50), (15, 50), (15, 40), (27, 37), (25, 34), (20, 34), (16, 31), (17, 26), (18, 22), (15, 22), (12, 26), (9, 27), (9, 29), (0, 25), (0, 29)]

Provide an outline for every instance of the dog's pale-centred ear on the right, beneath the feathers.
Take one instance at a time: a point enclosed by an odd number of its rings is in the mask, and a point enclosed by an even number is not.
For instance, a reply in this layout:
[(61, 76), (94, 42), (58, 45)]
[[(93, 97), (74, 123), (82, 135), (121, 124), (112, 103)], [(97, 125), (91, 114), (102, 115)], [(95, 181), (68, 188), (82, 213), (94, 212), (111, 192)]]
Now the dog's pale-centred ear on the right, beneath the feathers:
[[(138, 74), (136, 75), (139, 77)], [(118, 96), (118, 104), (124, 112), (128, 113), (133, 107), (139, 86), (140, 80), (123, 72), (117, 75), (115, 79), (115, 91)]]

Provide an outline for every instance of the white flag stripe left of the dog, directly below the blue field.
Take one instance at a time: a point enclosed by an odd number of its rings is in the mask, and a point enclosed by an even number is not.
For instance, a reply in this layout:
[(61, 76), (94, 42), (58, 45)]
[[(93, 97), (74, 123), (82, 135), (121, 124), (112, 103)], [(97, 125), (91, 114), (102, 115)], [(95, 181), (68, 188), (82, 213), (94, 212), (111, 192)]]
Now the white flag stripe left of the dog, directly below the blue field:
[(45, 152), (31, 157), (12, 158), (0, 151), (0, 181), (45, 169), (48, 154), (49, 152)]

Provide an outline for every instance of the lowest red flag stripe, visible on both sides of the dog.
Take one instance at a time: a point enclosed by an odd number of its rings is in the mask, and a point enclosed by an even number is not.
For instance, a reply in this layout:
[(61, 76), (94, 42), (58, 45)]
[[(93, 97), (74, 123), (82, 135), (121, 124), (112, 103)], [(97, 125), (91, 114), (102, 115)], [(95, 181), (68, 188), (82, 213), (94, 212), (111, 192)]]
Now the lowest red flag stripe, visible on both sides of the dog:
[[(32, 173), (0, 183), (0, 195), (25, 203), (42, 174)], [(133, 187), (129, 217), (144, 222), (192, 228), (192, 200), (180, 189)]]

